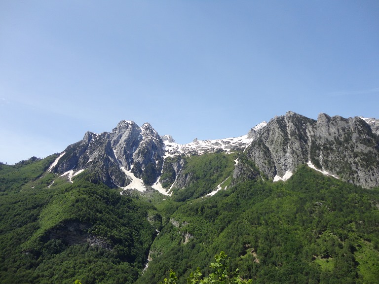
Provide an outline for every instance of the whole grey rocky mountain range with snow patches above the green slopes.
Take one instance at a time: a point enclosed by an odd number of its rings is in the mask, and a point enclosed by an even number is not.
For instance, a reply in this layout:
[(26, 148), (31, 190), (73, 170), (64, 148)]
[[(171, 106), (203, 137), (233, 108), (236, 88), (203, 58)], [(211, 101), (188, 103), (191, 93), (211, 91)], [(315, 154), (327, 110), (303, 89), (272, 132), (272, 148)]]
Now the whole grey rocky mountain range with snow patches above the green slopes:
[[(166, 161), (167, 157), (239, 150), (245, 151), (260, 174), (269, 179), (287, 179), (299, 165), (309, 164), (336, 178), (373, 188), (379, 186), (378, 135), (378, 119), (321, 113), (313, 120), (289, 111), (241, 137), (178, 144), (170, 135), (160, 136), (149, 123), (139, 127), (123, 120), (110, 132), (86, 132), (81, 141), (64, 150), (50, 171), (72, 176), (88, 170), (110, 187), (144, 190), (152, 186), (170, 194), (170, 188), (186, 184), (176, 182), (181, 180), (181, 162)], [(168, 183), (160, 179), (167, 170), (175, 172)], [(239, 163), (233, 177), (243, 178), (252, 172)]]

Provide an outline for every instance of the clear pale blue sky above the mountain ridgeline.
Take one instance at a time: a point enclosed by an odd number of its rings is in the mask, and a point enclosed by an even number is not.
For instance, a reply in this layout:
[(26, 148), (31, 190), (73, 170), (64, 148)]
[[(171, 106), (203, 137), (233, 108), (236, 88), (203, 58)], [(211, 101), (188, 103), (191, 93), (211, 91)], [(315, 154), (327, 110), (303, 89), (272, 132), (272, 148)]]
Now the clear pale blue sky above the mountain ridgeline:
[(149, 122), (236, 137), (288, 110), (379, 118), (379, 1), (0, 0), (0, 161)]

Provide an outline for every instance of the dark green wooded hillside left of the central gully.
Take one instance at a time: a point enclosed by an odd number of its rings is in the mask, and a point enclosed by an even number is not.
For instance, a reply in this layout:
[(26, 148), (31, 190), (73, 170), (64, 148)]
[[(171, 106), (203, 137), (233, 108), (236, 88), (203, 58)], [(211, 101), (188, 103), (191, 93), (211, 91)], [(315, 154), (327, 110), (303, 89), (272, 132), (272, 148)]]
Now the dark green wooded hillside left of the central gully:
[[(1, 180), (12, 178), (1, 183), (0, 282), (133, 283), (161, 227), (155, 207), (90, 182), (91, 174), (73, 183), (41, 176), (46, 162), (1, 166)], [(14, 169), (24, 182), (18, 189)]]

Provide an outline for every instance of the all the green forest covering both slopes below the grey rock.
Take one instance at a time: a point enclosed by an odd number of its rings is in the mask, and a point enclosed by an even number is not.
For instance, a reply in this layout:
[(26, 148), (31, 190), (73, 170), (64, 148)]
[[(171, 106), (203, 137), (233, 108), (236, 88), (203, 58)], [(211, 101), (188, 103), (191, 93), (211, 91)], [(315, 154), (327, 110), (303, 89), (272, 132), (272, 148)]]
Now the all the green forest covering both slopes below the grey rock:
[(1, 164), (0, 282), (154, 284), (175, 271), (183, 284), (225, 251), (252, 283), (377, 283), (379, 189), (306, 165), (285, 182), (232, 180), (233, 155), (188, 160), (195, 181), (172, 197), (120, 195), (86, 171), (71, 183), (47, 171), (56, 155)]

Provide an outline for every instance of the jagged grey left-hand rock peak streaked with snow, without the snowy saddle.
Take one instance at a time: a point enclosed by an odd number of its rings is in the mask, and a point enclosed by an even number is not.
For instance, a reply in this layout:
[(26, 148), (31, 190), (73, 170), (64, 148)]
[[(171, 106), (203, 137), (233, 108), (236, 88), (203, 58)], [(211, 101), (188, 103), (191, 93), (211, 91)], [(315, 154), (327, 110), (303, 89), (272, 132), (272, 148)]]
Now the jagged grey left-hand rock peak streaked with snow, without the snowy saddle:
[(88, 169), (108, 186), (123, 187), (130, 183), (120, 169), (124, 167), (151, 185), (162, 170), (164, 143), (149, 123), (139, 127), (123, 120), (110, 133), (87, 132), (64, 152), (52, 169), (55, 173)]

